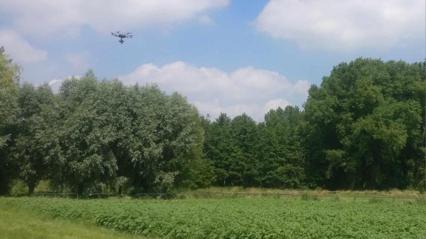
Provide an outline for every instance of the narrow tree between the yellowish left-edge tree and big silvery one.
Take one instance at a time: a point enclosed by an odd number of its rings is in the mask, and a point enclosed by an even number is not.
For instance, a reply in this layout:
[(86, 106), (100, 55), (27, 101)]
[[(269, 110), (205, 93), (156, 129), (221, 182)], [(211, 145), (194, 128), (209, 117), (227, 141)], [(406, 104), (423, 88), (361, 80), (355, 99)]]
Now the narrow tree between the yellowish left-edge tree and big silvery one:
[(54, 137), (54, 95), (45, 84), (35, 88), (23, 84), (19, 89), (20, 117), (18, 136), (13, 155), (19, 167), (19, 178), (28, 185), (29, 193), (41, 179), (46, 179), (55, 168), (58, 141)]

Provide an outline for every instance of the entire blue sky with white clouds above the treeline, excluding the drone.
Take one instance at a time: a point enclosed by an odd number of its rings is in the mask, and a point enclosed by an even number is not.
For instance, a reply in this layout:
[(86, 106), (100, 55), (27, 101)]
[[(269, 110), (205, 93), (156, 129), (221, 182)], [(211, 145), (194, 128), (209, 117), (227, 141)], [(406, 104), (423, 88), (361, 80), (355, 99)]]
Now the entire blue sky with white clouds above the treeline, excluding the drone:
[(342, 61), (425, 60), (425, 15), (425, 0), (1, 0), (0, 46), (21, 82), (58, 90), (93, 69), (263, 121)]

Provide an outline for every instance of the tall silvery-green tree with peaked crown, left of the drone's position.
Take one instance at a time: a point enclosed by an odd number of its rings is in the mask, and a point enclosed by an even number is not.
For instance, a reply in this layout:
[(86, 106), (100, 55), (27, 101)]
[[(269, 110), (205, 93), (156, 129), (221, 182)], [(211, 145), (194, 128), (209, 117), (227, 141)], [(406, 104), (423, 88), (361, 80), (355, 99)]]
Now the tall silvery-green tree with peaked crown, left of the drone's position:
[(112, 91), (111, 84), (99, 82), (92, 71), (62, 84), (55, 128), (60, 166), (51, 177), (56, 188), (89, 193), (115, 179), (116, 157), (109, 148), (116, 138)]

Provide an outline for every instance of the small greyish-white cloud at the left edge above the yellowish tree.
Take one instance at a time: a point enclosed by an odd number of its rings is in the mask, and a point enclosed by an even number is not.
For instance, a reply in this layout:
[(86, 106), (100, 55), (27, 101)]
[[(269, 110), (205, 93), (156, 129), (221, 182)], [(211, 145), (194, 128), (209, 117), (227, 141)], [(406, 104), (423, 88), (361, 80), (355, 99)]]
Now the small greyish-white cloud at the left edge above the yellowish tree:
[(47, 52), (31, 46), (19, 34), (11, 30), (0, 30), (0, 46), (14, 62), (35, 63), (47, 58)]

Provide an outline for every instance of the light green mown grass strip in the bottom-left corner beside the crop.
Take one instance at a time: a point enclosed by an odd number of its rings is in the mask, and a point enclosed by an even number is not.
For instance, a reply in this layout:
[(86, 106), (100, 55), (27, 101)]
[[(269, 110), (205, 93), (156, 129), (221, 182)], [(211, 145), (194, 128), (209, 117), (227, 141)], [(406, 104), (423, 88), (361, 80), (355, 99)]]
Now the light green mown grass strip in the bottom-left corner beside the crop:
[(0, 238), (4, 239), (136, 239), (87, 222), (53, 218), (45, 213), (0, 204)]

